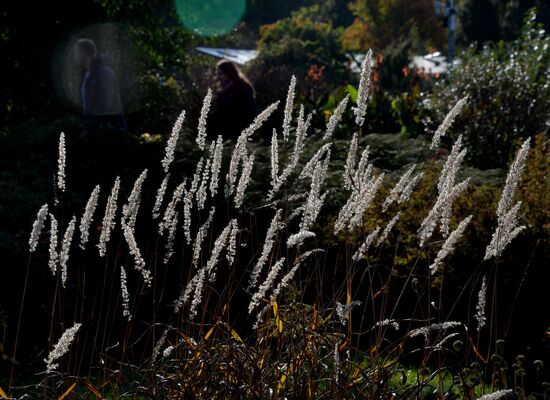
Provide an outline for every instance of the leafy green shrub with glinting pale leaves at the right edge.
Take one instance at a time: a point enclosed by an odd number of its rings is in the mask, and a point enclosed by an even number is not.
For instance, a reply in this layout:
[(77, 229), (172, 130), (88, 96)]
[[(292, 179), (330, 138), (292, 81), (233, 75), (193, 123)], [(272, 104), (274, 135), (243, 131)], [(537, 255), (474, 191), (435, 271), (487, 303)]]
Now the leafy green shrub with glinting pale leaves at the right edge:
[(549, 49), (550, 37), (531, 12), (521, 38), (486, 46), (480, 53), (469, 48), (461, 56), (461, 64), (434, 85), (425, 105), (438, 123), (460, 98), (469, 97), (451, 137), (464, 135), (473, 165), (502, 167), (517, 140), (547, 129)]

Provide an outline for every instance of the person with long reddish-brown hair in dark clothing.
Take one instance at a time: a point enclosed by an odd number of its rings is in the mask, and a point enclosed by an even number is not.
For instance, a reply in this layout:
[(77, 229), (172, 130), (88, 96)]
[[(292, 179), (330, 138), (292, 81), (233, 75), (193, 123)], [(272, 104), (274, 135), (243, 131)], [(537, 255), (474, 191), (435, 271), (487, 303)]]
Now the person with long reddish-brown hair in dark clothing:
[(213, 133), (236, 140), (256, 117), (254, 89), (239, 68), (228, 60), (218, 62), (217, 80)]

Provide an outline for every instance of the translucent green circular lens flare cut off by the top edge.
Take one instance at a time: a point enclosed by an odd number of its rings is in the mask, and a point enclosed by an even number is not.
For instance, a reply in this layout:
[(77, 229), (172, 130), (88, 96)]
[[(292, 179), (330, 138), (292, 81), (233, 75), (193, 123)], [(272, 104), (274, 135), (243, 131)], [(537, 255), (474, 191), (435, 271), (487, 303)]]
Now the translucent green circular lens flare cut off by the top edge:
[(229, 32), (240, 21), (245, 0), (175, 0), (180, 21), (201, 36)]

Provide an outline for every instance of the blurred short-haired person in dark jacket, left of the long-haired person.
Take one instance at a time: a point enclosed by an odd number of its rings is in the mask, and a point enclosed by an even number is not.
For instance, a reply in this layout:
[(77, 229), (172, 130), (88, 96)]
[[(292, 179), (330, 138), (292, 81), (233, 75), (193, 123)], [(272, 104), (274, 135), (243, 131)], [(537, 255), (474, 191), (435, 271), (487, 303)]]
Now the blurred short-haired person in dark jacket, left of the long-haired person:
[(74, 47), (76, 64), (82, 68), (80, 99), (87, 131), (108, 128), (126, 131), (118, 80), (112, 59), (98, 56), (91, 39), (79, 39)]

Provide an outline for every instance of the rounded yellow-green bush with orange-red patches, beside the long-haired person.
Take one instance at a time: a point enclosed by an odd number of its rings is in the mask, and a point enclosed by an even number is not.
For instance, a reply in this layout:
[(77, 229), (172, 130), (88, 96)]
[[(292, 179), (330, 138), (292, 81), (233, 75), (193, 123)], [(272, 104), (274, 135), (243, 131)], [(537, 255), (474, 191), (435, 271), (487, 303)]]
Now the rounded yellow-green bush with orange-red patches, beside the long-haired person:
[(349, 82), (341, 29), (329, 18), (330, 7), (313, 5), (260, 29), (260, 56), (250, 67), (259, 103), (285, 98), (290, 77), (300, 82), (297, 102), (321, 109), (327, 94)]

